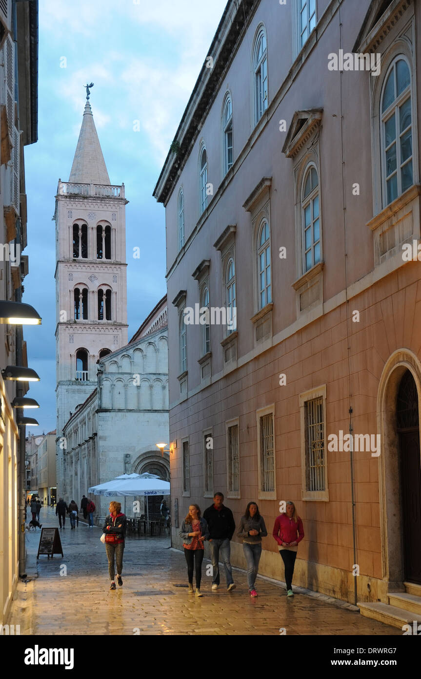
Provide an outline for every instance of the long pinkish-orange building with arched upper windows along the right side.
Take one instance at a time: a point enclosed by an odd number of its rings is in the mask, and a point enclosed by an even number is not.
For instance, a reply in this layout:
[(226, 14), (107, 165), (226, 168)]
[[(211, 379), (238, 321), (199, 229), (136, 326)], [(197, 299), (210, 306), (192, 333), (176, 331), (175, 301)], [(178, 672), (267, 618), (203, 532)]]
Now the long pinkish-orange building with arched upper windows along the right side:
[(173, 515), (256, 500), (283, 579), (294, 500), (294, 583), (388, 621), (421, 602), (420, 26), (418, 0), (229, 2), (154, 192)]

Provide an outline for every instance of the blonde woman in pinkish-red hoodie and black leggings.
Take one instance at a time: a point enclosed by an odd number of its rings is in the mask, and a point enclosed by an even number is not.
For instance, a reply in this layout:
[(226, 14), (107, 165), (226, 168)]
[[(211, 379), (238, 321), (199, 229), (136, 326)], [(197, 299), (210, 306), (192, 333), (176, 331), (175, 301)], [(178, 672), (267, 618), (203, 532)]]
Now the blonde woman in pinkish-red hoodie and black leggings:
[(279, 554), (285, 566), (287, 596), (294, 596), (292, 591), (292, 576), (294, 575), (298, 543), (304, 538), (304, 530), (294, 502), (288, 500), (286, 510), (275, 520), (273, 537), (278, 543)]

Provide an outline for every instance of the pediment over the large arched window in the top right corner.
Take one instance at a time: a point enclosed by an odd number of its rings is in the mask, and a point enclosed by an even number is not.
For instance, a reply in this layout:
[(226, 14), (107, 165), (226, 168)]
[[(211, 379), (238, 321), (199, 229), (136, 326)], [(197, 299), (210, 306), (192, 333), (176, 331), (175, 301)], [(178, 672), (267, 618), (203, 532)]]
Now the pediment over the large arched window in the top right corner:
[[(370, 54), (378, 49), (413, 0), (376, 0), (369, 8), (353, 52)], [(383, 10), (383, 12), (382, 12)]]

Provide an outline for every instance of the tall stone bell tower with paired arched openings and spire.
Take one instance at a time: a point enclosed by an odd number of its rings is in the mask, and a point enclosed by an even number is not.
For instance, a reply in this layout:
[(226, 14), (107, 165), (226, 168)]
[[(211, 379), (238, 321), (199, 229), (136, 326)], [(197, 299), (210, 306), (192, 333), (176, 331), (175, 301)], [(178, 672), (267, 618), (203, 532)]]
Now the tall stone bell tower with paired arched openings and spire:
[(96, 388), (98, 359), (127, 344), (128, 201), (124, 184), (110, 183), (88, 98), (71, 175), (58, 181), (53, 217), (58, 494), (66, 492), (62, 428)]

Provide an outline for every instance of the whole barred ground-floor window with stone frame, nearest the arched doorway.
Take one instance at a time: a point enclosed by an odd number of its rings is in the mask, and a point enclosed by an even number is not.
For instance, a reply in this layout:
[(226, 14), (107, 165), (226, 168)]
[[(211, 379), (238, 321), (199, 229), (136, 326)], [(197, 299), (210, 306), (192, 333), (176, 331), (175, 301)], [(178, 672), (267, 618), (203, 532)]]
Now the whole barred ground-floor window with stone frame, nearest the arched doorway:
[(303, 500), (329, 500), (325, 403), (325, 386), (300, 395)]

